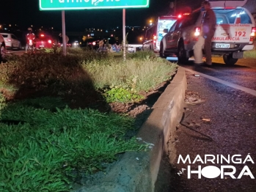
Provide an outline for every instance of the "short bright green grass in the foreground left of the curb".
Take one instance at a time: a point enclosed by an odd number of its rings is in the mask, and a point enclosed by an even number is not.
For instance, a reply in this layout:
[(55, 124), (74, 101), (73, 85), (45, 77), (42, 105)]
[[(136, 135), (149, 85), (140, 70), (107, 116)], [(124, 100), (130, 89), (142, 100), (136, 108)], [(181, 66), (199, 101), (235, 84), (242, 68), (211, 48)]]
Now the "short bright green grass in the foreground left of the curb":
[[(51, 98), (37, 98), (45, 100)], [(34, 103), (11, 103), (1, 111), (0, 191), (68, 191), (81, 174), (103, 169), (117, 154), (147, 149), (123, 138), (134, 119), (91, 109), (52, 112), (45, 108), (54, 103)]]

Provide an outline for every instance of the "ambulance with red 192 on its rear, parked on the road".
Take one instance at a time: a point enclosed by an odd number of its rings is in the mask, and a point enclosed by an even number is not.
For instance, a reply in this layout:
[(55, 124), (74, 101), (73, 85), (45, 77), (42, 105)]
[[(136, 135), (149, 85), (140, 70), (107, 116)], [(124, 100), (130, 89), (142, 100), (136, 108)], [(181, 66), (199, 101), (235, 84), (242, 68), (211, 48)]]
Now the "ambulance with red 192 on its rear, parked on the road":
[[(225, 64), (235, 64), (238, 59), (243, 58), (244, 51), (254, 48), (255, 20), (242, 7), (246, 0), (210, 2), (216, 14), (212, 53), (222, 55)], [(188, 61), (194, 54), (194, 44), (200, 35), (204, 15), (205, 11), (199, 8), (190, 15), (183, 15), (170, 29), (164, 29), (167, 34), (161, 40), (160, 56), (176, 54), (180, 62)]]

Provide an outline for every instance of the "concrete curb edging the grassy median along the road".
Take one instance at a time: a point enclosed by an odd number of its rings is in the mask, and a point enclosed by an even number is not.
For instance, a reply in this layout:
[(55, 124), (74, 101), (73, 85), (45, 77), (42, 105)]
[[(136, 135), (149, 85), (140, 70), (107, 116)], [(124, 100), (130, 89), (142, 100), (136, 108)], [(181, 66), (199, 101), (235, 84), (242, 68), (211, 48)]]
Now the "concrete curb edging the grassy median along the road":
[[(150, 144), (152, 149), (149, 152), (125, 152), (98, 185), (76, 191), (154, 191), (162, 155), (167, 152), (169, 139), (174, 141), (176, 125), (182, 117), (185, 91), (186, 74), (184, 68), (179, 67), (175, 78), (158, 98), (150, 117), (137, 135), (143, 143)], [(172, 149), (171, 156), (175, 158), (175, 149)]]

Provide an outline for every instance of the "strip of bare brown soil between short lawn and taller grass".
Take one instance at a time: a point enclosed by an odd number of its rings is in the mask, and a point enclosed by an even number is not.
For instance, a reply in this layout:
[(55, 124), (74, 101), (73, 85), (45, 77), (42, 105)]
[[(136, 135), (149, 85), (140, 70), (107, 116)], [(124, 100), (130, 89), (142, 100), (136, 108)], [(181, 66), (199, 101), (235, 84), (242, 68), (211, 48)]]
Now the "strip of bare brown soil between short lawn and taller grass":
[(159, 84), (155, 89), (151, 89), (148, 92), (140, 92), (139, 94), (143, 95), (145, 99), (141, 100), (139, 103), (106, 103), (106, 100), (95, 90), (72, 93), (67, 90), (64, 91), (65, 95), (59, 95), (58, 92), (54, 92), (53, 90), (44, 89), (37, 91), (33, 88), (19, 89), (15, 95), (7, 92), (7, 89), (0, 89), (0, 92), (4, 94), (8, 102), (34, 97), (62, 97), (70, 108), (93, 108), (101, 112), (128, 114), (128, 116), (136, 119), (141, 119), (141, 117), (145, 119), (145, 114), (150, 114), (153, 104), (156, 103), (156, 100), (158, 100), (158, 97), (164, 92), (169, 82), (170, 81), (166, 81)]

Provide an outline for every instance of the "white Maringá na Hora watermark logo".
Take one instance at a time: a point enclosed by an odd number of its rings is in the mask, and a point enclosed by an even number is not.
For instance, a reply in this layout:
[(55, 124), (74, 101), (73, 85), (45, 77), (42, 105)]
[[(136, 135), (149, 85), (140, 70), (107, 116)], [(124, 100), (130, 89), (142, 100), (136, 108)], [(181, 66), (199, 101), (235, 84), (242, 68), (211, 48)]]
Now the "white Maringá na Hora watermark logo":
[[(197, 155), (193, 161), (191, 161), (191, 157), (186, 155), (186, 158), (183, 158), (182, 155), (178, 157), (178, 164), (179, 163), (202, 163), (202, 164), (213, 164), (211, 166), (197, 166), (197, 169), (191, 169), (191, 165), (187, 166), (187, 169), (183, 168), (181, 171), (178, 172), (178, 175), (187, 174), (188, 179), (191, 179), (191, 174), (197, 175), (198, 179), (202, 177), (213, 179), (220, 177), (224, 179), (224, 177), (229, 176), (232, 179), (241, 179), (244, 175), (249, 176), (251, 179), (255, 179), (252, 171), (246, 166), (246, 163), (254, 164), (255, 162), (252, 160), (252, 157), (248, 154), (245, 158), (242, 155), (205, 155), (203, 158), (200, 155)], [(234, 164), (244, 164), (244, 168), (237, 173), (235, 166), (228, 165), (230, 163)], [(218, 166), (214, 166), (214, 164), (218, 164)], [(221, 166), (219, 166), (219, 164)], [(238, 177), (235, 175), (238, 174)]]

